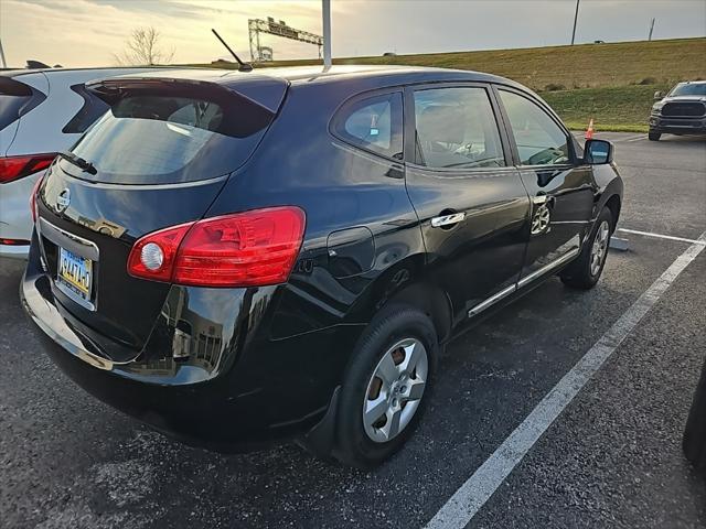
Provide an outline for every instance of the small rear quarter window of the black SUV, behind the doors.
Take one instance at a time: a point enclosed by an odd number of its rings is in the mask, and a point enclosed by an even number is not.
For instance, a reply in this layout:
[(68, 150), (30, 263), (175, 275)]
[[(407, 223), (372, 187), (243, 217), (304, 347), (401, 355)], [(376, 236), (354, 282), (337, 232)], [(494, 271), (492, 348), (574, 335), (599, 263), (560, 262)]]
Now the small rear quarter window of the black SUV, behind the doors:
[(347, 105), (336, 119), (335, 131), (354, 145), (402, 160), (402, 94), (368, 97)]

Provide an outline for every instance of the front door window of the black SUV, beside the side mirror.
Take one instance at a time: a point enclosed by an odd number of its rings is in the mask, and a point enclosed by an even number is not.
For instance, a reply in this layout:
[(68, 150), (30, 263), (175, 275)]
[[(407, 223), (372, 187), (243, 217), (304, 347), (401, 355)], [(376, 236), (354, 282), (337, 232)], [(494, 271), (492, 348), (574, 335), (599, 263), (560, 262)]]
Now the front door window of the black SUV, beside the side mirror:
[(564, 130), (536, 104), (500, 90), (523, 165), (553, 165), (570, 161)]

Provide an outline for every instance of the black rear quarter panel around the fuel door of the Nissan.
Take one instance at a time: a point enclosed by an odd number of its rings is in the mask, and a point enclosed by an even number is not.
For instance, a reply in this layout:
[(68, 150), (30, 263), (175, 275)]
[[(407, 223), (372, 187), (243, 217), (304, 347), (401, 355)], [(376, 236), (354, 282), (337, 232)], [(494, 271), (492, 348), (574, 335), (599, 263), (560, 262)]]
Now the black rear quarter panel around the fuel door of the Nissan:
[[(338, 86), (292, 85), (263, 144), (231, 177), (207, 214), (276, 205), (296, 205), (306, 212), (299, 261), (276, 294), (269, 330), (275, 339), (335, 325), (362, 327), (384, 293), (379, 290), (385, 290), (376, 280), (424, 256), (404, 166), (329, 132), (339, 106), (362, 90), (354, 82), (345, 85), (345, 91), (334, 89)], [(336, 277), (327, 239), (334, 231), (357, 227), (373, 235), (372, 266), (362, 273)]]

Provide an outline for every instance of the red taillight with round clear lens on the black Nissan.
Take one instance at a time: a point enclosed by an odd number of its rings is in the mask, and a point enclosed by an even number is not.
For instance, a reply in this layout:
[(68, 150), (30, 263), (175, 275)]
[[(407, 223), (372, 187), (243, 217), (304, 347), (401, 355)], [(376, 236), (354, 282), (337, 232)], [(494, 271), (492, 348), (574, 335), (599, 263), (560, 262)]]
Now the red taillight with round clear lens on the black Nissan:
[(284, 206), (206, 218), (139, 239), (130, 276), (197, 287), (287, 281), (301, 247), (304, 212)]

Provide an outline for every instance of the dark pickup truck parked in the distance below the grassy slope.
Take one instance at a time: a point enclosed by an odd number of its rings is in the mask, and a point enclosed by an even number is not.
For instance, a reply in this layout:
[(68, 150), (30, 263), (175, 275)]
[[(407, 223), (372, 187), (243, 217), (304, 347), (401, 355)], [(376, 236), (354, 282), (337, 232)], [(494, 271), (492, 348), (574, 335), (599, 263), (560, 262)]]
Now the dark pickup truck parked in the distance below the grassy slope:
[(706, 134), (706, 80), (680, 83), (665, 96), (654, 93), (650, 114), (651, 141), (660, 141), (663, 133)]

